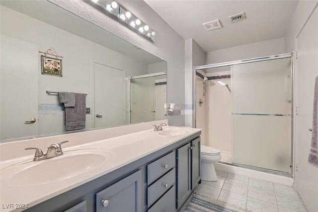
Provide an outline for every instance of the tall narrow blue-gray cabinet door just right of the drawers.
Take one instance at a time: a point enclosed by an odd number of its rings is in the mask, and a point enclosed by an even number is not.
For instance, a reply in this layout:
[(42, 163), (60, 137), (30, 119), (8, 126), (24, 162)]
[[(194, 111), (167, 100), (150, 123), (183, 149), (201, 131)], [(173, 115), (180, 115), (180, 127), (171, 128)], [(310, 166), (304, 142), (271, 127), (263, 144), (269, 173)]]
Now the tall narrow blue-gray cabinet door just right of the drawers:
[(177, 149), (177, 208), (179, 209), (191, 193), (190, 143)]

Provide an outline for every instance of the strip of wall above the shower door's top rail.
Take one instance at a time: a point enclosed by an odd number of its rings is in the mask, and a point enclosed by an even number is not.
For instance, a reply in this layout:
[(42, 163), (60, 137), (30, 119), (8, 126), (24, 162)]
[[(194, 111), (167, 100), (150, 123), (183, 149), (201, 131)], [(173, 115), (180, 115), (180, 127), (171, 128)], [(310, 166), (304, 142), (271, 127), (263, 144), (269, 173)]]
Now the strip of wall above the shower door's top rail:
[(223, 63), (283, 53), (287, 53), (285, 52), (285, 41), (284, 38), (278, 38), (208, 52), (206, 64)]

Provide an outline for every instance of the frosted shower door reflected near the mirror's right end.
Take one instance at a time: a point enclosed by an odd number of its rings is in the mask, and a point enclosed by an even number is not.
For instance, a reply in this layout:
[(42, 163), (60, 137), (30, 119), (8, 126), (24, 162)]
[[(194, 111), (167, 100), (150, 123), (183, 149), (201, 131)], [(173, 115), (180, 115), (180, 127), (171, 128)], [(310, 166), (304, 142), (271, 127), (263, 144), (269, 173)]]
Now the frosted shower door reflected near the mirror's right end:
[(144, 77), (130, 80), (130, 122), (153, 121), (155, 78)]

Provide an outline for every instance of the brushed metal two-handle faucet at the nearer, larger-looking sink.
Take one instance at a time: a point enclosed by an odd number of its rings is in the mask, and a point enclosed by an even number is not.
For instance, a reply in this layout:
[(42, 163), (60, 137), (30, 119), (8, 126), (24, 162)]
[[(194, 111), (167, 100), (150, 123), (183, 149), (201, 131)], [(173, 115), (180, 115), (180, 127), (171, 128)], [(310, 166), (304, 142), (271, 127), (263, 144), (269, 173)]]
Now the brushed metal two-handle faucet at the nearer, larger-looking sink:
[(28, 147), (28, 148), (25, 148), (25, 150), (35, 149), (35, 155), (34, 155), (33, 161), (45, 160), (45, 159), (54, 158), (54, 157), (63, 155), (61, 144), (66, 142), (69, 142), (69, 141), (62, 141), (61, 143), (51, 144), (48, 147), (48, 151), (46, 152), (46, 154), (43, 154), (42, 150), (37, 147)]

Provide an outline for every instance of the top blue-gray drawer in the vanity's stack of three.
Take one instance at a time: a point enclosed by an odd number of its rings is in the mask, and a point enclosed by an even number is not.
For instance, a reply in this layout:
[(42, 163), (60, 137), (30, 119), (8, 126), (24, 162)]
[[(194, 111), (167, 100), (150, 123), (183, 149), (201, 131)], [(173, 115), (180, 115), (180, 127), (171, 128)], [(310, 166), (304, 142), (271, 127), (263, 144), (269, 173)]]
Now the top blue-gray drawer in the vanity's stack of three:
[(171, 152), (147, 166), (148, 185), (175, 166), (175, 152)]

